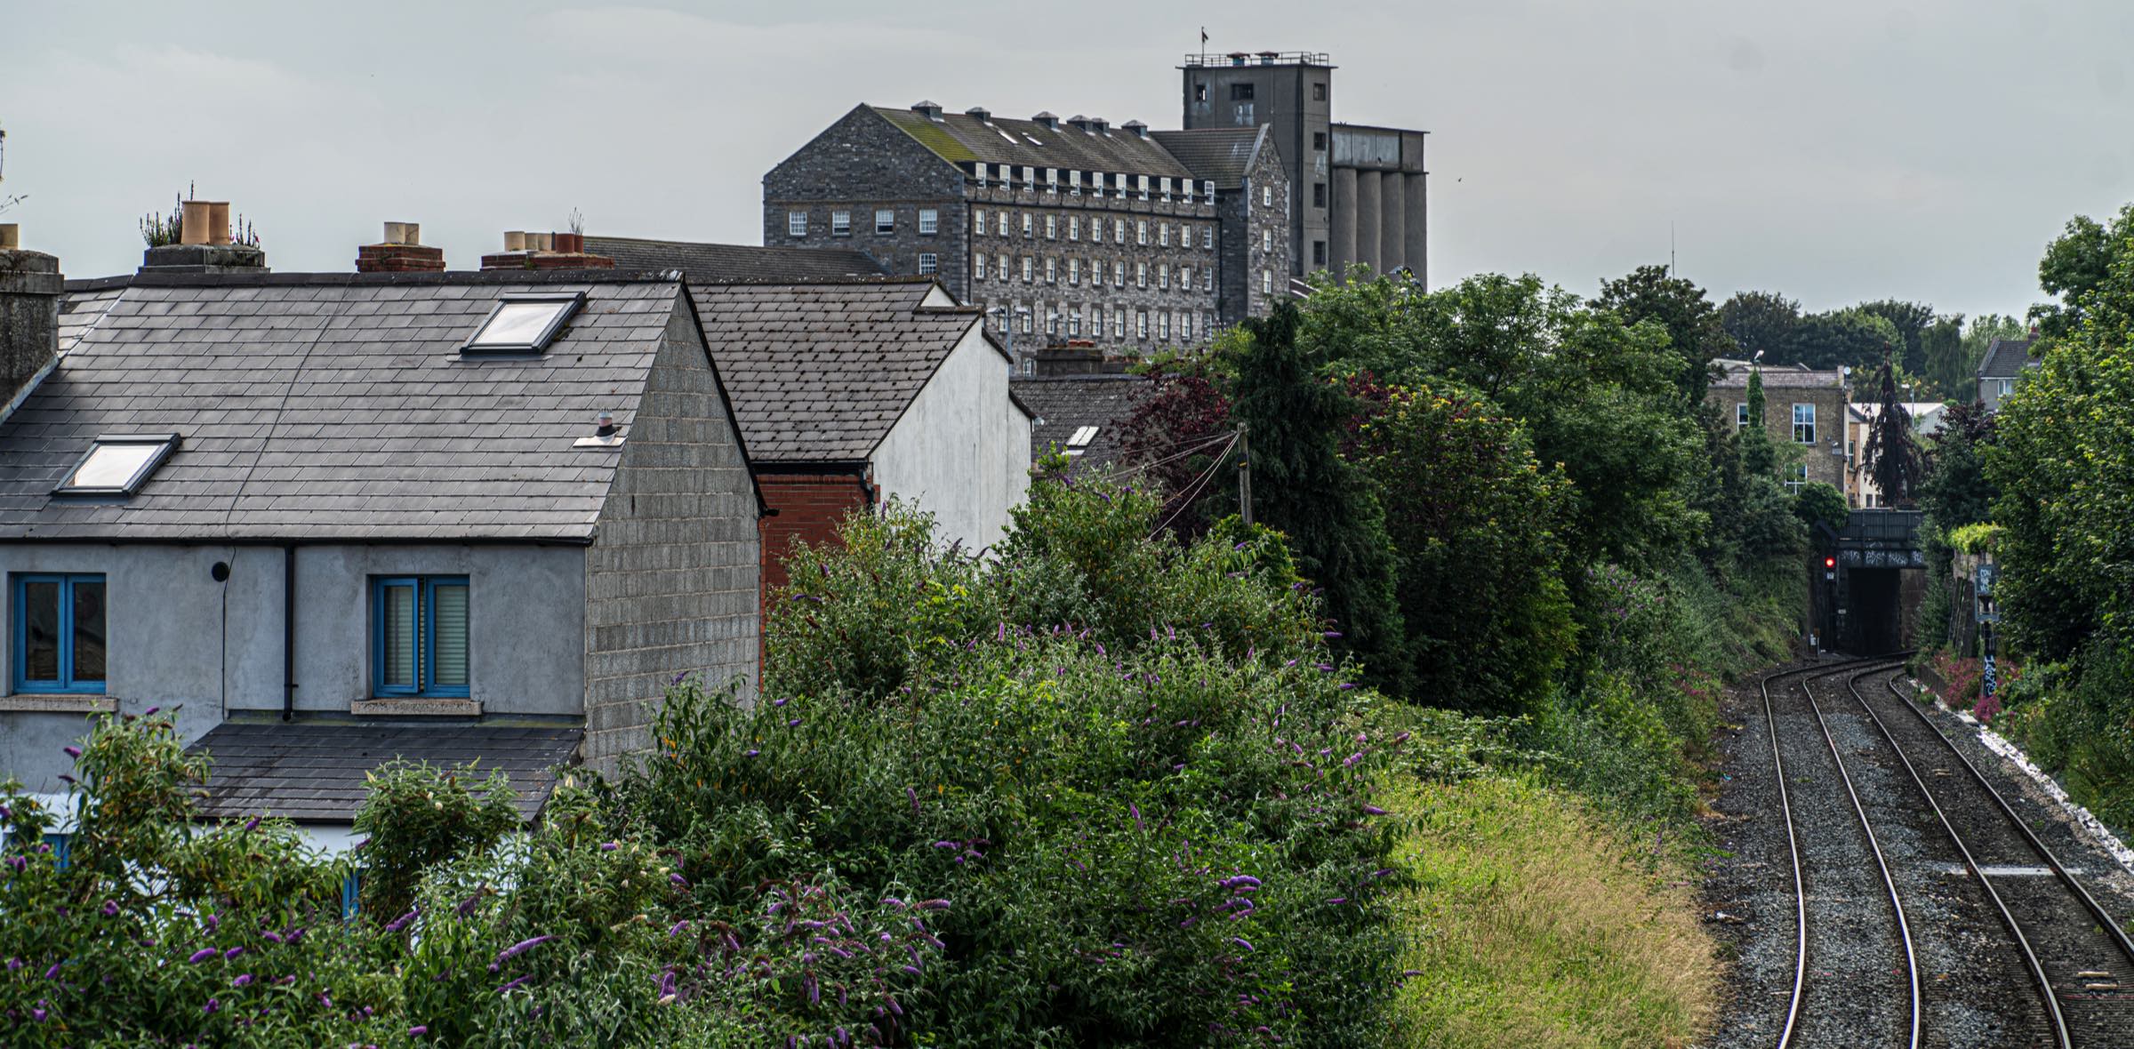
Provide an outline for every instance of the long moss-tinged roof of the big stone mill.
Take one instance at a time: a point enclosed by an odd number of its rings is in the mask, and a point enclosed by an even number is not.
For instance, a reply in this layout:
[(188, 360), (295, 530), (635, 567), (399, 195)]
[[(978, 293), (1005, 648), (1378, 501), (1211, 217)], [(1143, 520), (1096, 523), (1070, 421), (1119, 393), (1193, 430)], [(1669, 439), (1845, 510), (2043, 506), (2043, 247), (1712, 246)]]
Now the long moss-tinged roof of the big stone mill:
[(1071, 124), (1046, 128), (1033, 119), (992, 115), (990, 124), (967, 113), (928, 119), (911, 109), (869, 107), (952, 164), (973, 160), (1061, 171), (1103, 171), (1187, 179), (1193, 173), (1154, 139), (1122, 128), (1086, 132)]

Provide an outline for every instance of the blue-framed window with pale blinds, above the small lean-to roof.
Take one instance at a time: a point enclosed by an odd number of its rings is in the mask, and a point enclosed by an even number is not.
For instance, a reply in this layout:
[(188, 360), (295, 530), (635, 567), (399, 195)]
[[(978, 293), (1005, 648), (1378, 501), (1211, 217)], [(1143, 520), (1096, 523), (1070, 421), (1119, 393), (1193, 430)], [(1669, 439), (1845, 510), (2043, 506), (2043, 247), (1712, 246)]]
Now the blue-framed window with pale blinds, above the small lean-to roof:
[(371, 580), (371, 693), (467, 695), (467, 578)]

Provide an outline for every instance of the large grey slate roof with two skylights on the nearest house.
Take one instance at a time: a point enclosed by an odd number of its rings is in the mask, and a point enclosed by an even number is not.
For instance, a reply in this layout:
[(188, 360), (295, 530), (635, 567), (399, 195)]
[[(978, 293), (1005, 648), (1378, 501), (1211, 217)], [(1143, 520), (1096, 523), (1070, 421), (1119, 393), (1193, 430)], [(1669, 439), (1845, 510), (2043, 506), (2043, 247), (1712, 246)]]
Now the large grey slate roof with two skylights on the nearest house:
[[(542, 356), (461, 358), (497, 296), (583, 290)], [(587, 273), (134, 277), (0, 424), (0, 537), (593, 533), (681, 281)], [(126, 501), (53, 499), (100, 433), (177, 433)]]

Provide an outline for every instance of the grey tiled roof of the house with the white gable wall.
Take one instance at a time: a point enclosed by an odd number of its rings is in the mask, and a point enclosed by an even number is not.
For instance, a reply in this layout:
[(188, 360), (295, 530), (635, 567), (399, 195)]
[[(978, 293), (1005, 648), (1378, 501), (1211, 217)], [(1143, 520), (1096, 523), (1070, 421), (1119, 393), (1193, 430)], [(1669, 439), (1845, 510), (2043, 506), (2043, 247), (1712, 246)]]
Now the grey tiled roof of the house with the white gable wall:
[(753, 463), (858, 463), (980, 322), (933, 281), (691, 286)]

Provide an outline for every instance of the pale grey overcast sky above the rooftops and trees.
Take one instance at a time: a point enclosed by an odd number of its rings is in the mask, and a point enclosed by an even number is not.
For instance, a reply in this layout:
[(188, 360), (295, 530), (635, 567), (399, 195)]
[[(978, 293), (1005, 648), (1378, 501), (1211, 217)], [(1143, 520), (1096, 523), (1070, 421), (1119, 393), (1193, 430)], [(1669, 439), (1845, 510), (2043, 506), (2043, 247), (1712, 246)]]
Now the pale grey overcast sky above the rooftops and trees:
[[(1308, 15), (1297, 17), (1297, 11)], [(280, 271), (382, 220), (455, 269), (506, 228), (762, 243), (762, 175), (856, 102), (1178, 126), (1178, 60), (1312, 49), (1334, 117), (1430, 139), (1430, 279), (2021, 311), (2070, 215), (2134, 200), (2134, 4), (28, 4), (0, 196), (73, 277), (188, 181)]]

